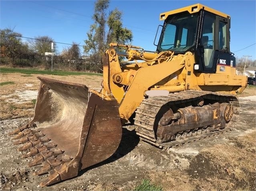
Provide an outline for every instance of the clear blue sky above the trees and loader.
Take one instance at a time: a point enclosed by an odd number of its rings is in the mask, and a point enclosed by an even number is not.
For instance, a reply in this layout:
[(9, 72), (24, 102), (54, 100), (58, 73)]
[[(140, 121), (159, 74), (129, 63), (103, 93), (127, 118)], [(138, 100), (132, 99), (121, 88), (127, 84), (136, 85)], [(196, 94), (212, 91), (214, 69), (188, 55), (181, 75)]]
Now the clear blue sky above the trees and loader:
[[(249, 59), (256, 59), (255, 0), (111, 0), (108, 12), (115, 8), (121, 10), (123, 26), (133, 32), (132, 44), (155, 51), (157, 26), (163, 24), (159, 15), (196, 3), (230, 15), (231, 52), (236, 57), (248, 55), (252, 56)], [(94, 4), (93, 0), (0, 0), (0, 29), (14, 28), (24, 37), (48, 35), (56, 42), (84, 45), (93, 24)], [(69, 45), (57, 44), (57, 47), (60, 53)]]

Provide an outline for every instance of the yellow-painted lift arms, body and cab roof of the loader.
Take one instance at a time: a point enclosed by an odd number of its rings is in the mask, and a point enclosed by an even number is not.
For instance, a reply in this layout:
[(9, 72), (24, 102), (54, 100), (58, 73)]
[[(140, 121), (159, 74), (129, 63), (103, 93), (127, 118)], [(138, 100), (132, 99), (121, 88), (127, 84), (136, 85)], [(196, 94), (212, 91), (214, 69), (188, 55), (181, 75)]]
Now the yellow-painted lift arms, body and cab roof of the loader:
[[(203, 7), (206, 11), (230, 18), (202, 4), (195, 4), (165, 12), (160, 15), (160, 20), (179, 12), (198, 12)], [(117, 46), (125, 48), (126, 52), (120, 54), (134, 62), (120, 65), (119, 55), (115, 51)], [(95, 93), (106, 100), (116, 99), (119, 114), (125, 121), (139, 107), (148, 90), (167, 90), (173, 93), (192, 89), (235, 95), (246, 87), (246, 76), (236, 75), (234, 67), (217, 65), (216, 73), (200, 73), (194, 71), (195, 63), (195, 55), (191, 52), (179, 55), (171, 51), (149, 53), (141, 47), (111, 43), (104, 57), (103, 88), (100, 93)]]

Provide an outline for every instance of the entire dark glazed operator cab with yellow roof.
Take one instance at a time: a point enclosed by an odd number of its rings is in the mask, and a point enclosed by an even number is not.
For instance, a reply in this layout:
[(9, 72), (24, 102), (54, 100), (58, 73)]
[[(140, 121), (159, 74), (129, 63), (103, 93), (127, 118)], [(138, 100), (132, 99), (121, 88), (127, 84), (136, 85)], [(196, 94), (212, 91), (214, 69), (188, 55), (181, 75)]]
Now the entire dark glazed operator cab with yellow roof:
[[(235, 67), (230, 52), (230, 16), (202, 4), (160, 14), (165, 20), (157, 52), (195, 54), (200, 72), (216, 73), (216, 65)], [(196, 69), (196, 68), (195, 68)]]

